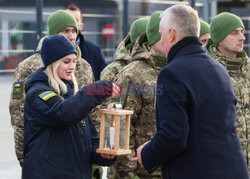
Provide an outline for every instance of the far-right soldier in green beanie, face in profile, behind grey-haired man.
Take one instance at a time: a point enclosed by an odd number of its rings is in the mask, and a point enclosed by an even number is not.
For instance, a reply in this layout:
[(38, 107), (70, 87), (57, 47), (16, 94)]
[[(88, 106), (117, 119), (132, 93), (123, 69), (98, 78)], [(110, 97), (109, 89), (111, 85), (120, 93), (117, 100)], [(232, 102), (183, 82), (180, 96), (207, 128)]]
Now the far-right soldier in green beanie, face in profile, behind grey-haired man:
[(250, 171), (250, 112), (249, 112), (249, 60), (243, 50), (244, 25), (242, 20), (231, 13), (223, 12), (215, 16), (210, 24), (211, 39), (205, 49), (220, 62), (231, 77), (234, 92), (238, 98), (236, 115), (241, 146)]

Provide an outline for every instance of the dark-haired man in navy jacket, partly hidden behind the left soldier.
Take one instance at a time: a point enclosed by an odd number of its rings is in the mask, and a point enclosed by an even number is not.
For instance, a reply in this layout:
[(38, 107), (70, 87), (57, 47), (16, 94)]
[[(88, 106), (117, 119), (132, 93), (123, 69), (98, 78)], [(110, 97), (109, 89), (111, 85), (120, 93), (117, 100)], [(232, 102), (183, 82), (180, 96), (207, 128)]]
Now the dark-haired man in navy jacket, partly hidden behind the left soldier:
[(82, 58), (85, 59), (92, 67), (95, 80), (100, 79), (100, 73), (107, 66), (101, 47), (94, 43), (85, 40), (81, 31), (84, 28), (82, 11), (76, 5), (70, 5), (66, 11), (71, 13), (75, 18), (79, 26), (79, 34), (77, 36), (77, 43), (82, 52)]

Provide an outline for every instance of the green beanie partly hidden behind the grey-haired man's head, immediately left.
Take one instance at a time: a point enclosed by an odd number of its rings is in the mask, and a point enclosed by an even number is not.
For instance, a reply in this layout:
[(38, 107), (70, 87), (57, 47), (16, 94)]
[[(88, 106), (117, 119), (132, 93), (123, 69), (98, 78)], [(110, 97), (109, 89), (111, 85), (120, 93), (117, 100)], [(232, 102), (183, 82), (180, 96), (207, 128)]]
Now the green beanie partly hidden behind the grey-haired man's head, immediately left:
[(155, 42), (161, 39), (161, 34), (159, 32), (159, 25), (160, 25), (160, 15), (163, 11), (155, 11), (152, 13), (147, 28), (146, 28), (146, 35), (148, 39), (148, 44), (152, 45)]

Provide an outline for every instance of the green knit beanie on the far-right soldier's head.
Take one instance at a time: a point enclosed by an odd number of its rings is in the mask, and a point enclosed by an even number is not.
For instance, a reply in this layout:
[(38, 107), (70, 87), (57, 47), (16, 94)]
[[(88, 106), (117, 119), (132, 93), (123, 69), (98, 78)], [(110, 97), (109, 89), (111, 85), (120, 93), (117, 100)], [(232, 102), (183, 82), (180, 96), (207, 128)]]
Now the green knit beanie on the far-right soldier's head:
[(210, 35), (214, 45), (217, 47), (228, 34), (238, 27), (245, 29), (242, 20), (238, 16), (229, 12), (216, 15), (210, 23)]

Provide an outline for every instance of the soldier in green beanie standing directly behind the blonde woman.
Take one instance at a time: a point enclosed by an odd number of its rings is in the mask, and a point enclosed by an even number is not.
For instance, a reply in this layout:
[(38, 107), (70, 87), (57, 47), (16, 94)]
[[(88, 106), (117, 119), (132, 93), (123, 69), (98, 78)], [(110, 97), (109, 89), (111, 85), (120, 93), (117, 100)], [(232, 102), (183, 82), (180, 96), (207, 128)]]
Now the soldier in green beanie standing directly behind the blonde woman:
[[(91, 66), (81, 58), (80, 48), (76, 44), (78, 25), (75, 18), (64, 10), (58, 10), (50, 15), (48, 19), (48, 35), (61, 34), (74, 43), (78, 52), (75, 75), (81, 89), (87, 83), (94, 81)], [(18, 64), (10, 97), (9, 111), (11, 125), (14, 128), (15, 151), (20, 165), (23, 164), (23, 141), (24, 141), (24, 84), (28, 76), (36, 69), (43, 67), (40, 49), (43, 39), (40, 40), (36, 53)]]

